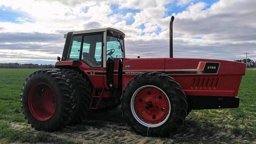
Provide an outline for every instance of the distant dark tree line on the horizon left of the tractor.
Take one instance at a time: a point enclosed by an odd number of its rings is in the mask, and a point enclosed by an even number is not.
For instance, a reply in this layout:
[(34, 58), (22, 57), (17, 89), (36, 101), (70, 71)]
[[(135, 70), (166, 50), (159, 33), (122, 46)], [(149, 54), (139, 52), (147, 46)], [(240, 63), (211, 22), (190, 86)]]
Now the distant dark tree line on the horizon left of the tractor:
[(52, 64), (0, 63), (0, 68), (54, 68)]

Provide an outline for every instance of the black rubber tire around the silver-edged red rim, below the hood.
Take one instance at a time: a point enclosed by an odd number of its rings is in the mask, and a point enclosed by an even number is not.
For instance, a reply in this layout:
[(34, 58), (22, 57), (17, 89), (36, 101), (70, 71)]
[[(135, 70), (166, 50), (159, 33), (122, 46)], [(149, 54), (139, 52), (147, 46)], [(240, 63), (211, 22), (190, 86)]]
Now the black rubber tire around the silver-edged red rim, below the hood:
[[(132, 112), (132, 97), (135, 96), (136, 98), (139, 94), (138, 90), (144, 86), (159, 88), (158, 90), (162, 90), (167, 96), (166, 99), (170, 101), (168, 102), (170, 106), (169, 116), (166, 115), (164, 120), (156, 124), (155, 127), (142, 125), (144, 120), (138, 120), (138, 117), (136, 120), (134, 116), (134, 113), (138, 114), (138, 112)], [(134, 94), (136, 91), (137, 93)], [(186, 95), (180, 85), (173, 78), (160, 72), (146, 72), (132, 78), (124, 88), (121, 97), (123, 118), (135, 132), (142, 136), (170, 136), (176, 132), (186, 118), (187, 105)]]

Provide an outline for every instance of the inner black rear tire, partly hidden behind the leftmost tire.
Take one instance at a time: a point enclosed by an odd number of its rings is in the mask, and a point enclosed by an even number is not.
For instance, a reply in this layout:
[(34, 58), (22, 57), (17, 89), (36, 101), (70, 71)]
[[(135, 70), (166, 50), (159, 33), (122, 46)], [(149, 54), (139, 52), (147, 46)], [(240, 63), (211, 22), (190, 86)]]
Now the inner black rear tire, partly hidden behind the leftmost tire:
[(92, 86), (90, 81), (77, 71), (61, 69), (58, 70), (58, 72), (61, 72), (64, 76), (70, 79), (72, 84), (74, 84), (74, 89), (76, 90), (74, 93), (74, 96), (76, 96), (76, 109), (74, 110), (74, 117), (70, 121), (69, 125), (78, 124), (84, 120), (89, 110)]

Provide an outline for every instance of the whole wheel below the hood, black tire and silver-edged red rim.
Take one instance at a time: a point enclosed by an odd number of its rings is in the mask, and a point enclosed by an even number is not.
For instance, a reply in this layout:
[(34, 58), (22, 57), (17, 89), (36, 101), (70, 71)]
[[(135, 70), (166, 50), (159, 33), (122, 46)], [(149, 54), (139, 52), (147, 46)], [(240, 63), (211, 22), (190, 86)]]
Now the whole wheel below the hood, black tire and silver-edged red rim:
[(121, 97), (123, 117), (143, 136), (168, 136), (186, 118), (186, 96), (180, 85), (160, 72), (134, 77)]

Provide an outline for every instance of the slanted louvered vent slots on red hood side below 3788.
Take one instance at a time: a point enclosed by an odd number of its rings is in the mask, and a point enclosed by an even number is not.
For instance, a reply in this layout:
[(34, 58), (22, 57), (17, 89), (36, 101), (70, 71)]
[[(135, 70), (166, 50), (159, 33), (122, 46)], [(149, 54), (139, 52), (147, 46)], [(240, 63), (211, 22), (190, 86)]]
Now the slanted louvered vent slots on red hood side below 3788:
[(193, 80), (191, 89), (216, 89), (218, 81), (218, 77), (196, 77)]

